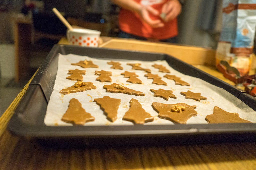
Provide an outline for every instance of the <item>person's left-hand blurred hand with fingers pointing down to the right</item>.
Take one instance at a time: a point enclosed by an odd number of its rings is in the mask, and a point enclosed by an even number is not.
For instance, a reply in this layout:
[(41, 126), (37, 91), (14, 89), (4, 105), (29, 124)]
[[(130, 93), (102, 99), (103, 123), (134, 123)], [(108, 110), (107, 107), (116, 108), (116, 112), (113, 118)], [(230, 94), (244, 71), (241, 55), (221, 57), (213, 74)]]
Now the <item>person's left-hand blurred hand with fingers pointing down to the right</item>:
[(155, 16), (159, 16), (159, 12), (156, 9), (154, 9), (153, 7), (141, 6), (140, 16), (148, 25), (150, 25), (152, 28), (164, 27), (164, 23), (160, 19), (157, 19), (157, 20), (151, 19), (150, 13)]

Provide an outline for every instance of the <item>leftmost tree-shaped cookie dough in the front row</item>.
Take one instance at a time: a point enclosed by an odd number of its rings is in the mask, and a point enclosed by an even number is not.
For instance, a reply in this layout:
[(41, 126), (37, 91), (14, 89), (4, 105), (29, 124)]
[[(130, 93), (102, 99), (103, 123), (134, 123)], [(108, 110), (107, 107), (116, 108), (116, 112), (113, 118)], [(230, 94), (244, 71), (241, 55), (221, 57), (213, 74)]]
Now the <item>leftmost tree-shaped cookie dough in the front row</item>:
[(62, 117), (63, 122), (72, 123), (73, 125), (84, 125), (86, 122), (94, 121), (94, 117), (87, 113), (82, 104), (75, 98), (69, 101), (68, 110)]

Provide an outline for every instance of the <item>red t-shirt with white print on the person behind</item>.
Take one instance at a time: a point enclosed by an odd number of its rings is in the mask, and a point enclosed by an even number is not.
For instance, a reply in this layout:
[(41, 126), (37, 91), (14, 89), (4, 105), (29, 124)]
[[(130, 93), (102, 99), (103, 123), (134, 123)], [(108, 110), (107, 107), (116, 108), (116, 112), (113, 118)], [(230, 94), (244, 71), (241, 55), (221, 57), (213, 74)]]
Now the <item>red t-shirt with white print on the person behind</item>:
[[(133, 0), (142, 5), (151, 5), (161, 14), (163, 5), (168, 0)], [(161, 19), (159, 16), (150, 15), (152, 19)], [(164, 21), (163, 21), (164, 22)], [(152, 28), (145, 23), (140, 15), (129, 10), (121, 9), (119, 13), (120, 29), (126, 33), (145, 38), (168, 39), (178, 35), (177, 18), (169, 22), (164, 22), (162, 28)]]

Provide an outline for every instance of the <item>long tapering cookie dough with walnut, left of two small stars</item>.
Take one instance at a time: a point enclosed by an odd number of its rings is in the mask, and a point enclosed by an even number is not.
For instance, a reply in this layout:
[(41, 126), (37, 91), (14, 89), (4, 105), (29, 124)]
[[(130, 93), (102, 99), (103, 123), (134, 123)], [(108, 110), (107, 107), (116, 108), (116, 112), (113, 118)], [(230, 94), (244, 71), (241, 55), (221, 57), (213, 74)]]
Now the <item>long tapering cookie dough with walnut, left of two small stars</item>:
[(124, 93), (124, 94), (135, 95), (135, 96), (145, 96), (145, 93), (143, 92), (129, 89), (117, 83), (104, 85), (103, 89), (106, 89), (106, 92), (110, 92), (110, 93)]

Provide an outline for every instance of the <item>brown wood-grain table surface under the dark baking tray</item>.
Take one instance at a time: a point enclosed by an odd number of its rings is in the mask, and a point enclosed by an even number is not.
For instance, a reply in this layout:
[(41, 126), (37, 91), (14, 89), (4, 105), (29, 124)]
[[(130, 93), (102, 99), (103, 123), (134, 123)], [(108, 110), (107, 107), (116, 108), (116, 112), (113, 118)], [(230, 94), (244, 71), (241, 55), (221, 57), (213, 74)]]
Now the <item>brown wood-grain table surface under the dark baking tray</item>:
[[(225, 80), (212, 67), (197, 67)], [(0, 118), (0, 169), (256, 169), (256, 142), (44, 148), (34, 140), (14, 136), (5, 130), (28, 84)]]

